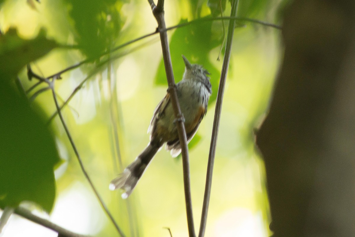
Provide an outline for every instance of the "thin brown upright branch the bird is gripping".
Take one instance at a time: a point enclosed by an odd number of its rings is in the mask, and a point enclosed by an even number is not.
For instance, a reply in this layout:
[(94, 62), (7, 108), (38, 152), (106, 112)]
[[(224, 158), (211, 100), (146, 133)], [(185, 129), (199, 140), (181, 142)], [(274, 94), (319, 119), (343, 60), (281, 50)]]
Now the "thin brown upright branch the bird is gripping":
[(193, 225), (192, 216), (192, 201), (190, 188), (190, 165), (189, 165), (189, 150), (187, 148), (186, 130), (184, 124), (184, 117), (181, 114), (181, 109), (178, 101), (178, 93), (176, 92), (176, 85), (174, 81), (173, 66), (171, 65), (168, 34), (166, 33), (166, 26), (164, 20), (164, 0), (158, 0), (155, 6), (153, 0), (148, 0), (152, 7), (153, 15), (158, 22), (158, 31), (160, 34), (160, 43), (162, 44), (163, 60), (166, 72), (166, 79), (168, 81), (168, 92), (170, 94), (171, 105), (173, 106), (176, 127), (178, 129), (179, 141), (181, 145), (182, 155), (182, 169), (184, 173), (184, 190), (185, 190), (185, 204), (187, 227), (189, 229), (189, 236), (195, 237), (195, 227)]

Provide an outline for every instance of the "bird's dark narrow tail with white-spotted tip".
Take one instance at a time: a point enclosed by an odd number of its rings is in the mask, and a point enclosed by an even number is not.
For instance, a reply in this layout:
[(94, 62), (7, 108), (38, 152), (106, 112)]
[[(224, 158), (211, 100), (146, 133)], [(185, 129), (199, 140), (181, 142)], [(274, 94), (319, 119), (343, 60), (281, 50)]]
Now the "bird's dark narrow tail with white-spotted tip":
[(149, 142), (146, 149), (144, 149), (142, 153), (137, 156), (136, 160), (127, 166), (123, 173), (111, 181), (109, 189), (115, 190), (120, 188), (124, 190), (125, 192), (122, 194), (122, 198), (126, 199), (136, 187), (138, 180), (142, 177), (142, 174), (160, 147), (161, 146), (154, 145), (152, 142)]

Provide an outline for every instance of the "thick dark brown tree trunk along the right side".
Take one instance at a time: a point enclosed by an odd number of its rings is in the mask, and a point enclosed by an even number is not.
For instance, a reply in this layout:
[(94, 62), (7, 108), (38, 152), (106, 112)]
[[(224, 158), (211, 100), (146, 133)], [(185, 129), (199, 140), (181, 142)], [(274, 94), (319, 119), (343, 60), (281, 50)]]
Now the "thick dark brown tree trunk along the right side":
[(296, 0), (257, 132), (274, 237), (355, 236), (355, 2)]

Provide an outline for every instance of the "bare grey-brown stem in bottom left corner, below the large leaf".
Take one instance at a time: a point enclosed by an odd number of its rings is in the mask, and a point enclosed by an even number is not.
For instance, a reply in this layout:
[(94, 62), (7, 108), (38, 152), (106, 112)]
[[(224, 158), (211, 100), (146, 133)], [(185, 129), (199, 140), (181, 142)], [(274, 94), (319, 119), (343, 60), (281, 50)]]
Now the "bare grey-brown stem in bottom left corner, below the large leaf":
[(26, 218), (27, 220), (30, 220), (34, 223), (37, 223), (41, 226), (47, 227), (55, 232), (58, 233), (58, 235), (65, 236), (65, 237), (88, 237), (87, 235), (80, 235), (74, 232), (71, 232), (69, 230), (66, 230), (63, 227), (60, 227), (53, 222), (50, 222), (49, 220), (43, 219), (41, 217), (38, 217), (36, 215), (33, 215), (31, 211), (27, 210), (26, 208), (22, 208), (19, 206), (18, 208), (15, 209), (15, 213), (19, 216), (22, 216)]

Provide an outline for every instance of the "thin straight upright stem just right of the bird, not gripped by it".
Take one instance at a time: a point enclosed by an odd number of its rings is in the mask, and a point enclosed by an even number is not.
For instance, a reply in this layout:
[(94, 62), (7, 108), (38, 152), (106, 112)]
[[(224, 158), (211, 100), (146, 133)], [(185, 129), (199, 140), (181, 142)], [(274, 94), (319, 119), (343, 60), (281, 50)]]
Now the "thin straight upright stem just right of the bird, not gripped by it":
[[(235, 17), (237, 14), (238, 2), (239, 2), (239, 0), (233, 0), (233, 2), (232, 2), (231, 12), (230, 12), (231, 17)], [(230, 54), (231, 54), (231, 49), (232, 49), (234, 27), (235, 27), (235, 20), (230, 20), (229, 26), (228, 26), (227, 43), (226, 43), (226, 47), (225, 47), (225, 54), (224, 54), (223, 65), (222, 65), (222, 72), (221, 72), (221, 77), (219, 80), (216, 107), (215, 107), (215, 111), (214, 111), (212, 138), (211, 138), (211, 145), (209, 147), (209, 155), (208, 155), (206, 186), (205, 186), (204, 196), (203, 196), (201, 223), (200, 223), (200, 231), (198, 233), (198, 237), (203, 237), (204, 232), (206, 231), (208, 205), (209, 205), (209, 198), (211, 196), (214, 157), (216, 154), (216, 145), (217, 145), (219, 123), (220, 123), (220, 116), (221, 116), (221, 112), (222, 112), (223, 94), (224, 94), (225, 81), (226, 81), (226, 77), (227, 77)]]

